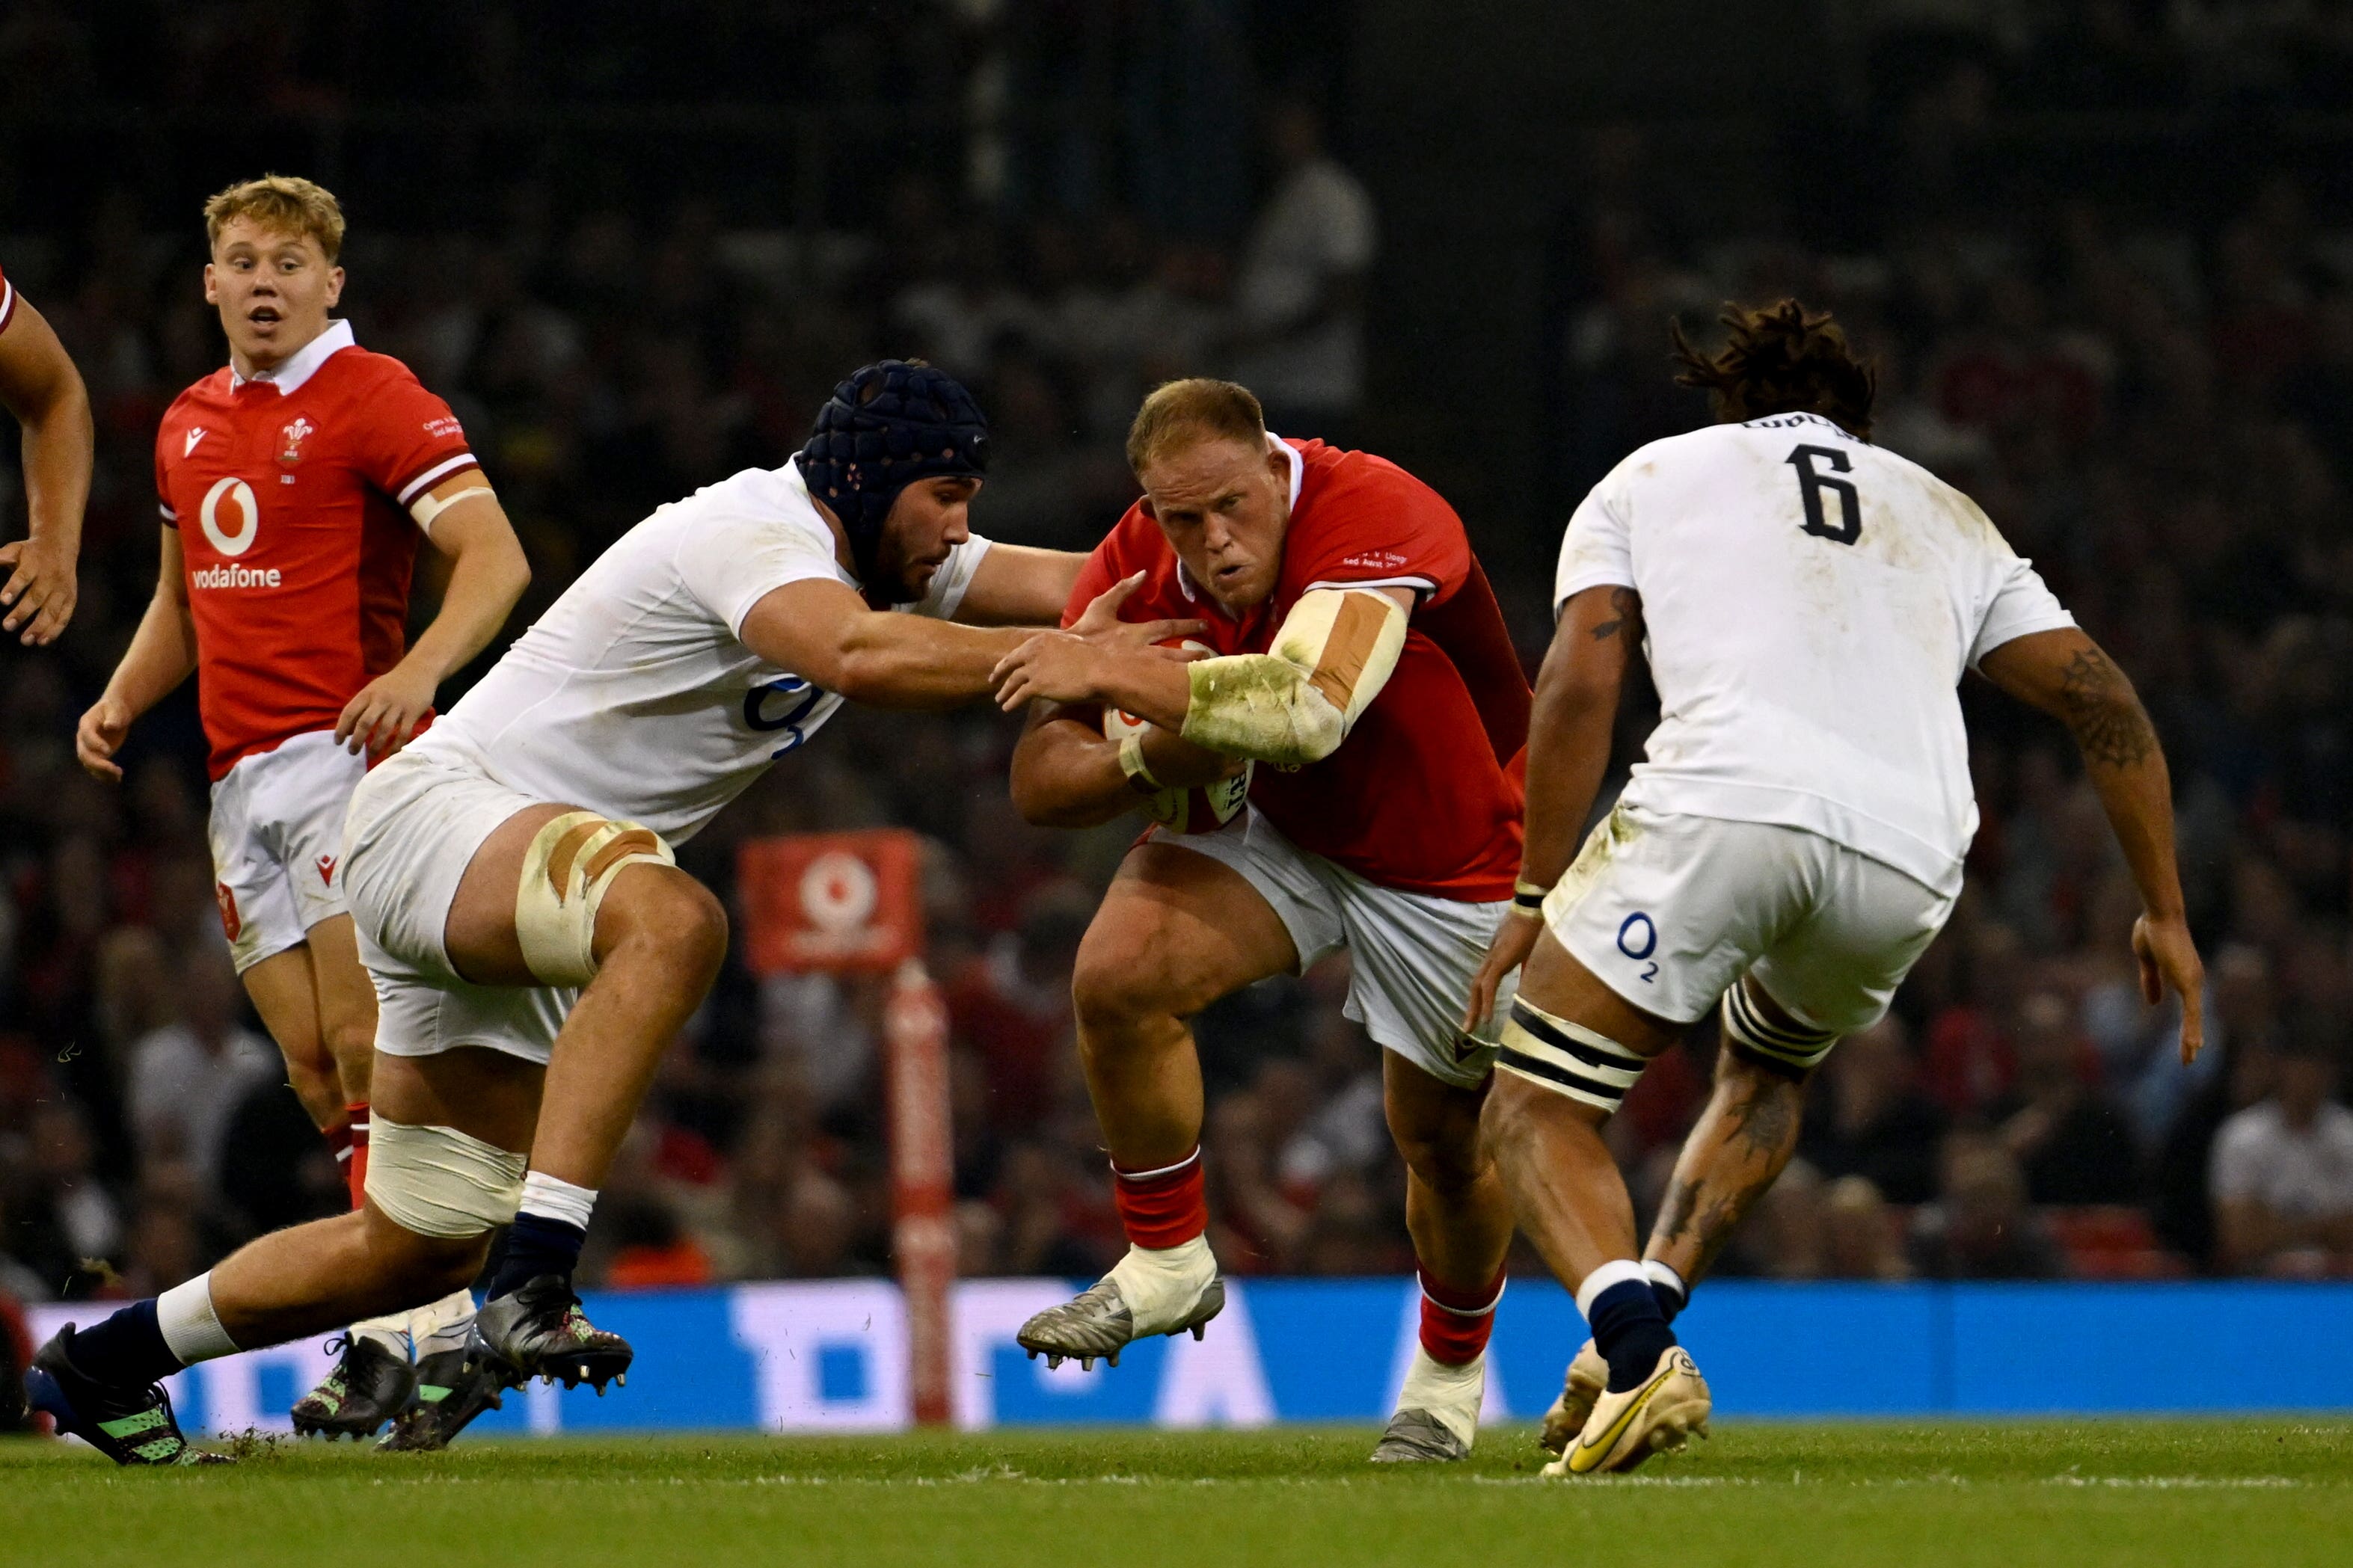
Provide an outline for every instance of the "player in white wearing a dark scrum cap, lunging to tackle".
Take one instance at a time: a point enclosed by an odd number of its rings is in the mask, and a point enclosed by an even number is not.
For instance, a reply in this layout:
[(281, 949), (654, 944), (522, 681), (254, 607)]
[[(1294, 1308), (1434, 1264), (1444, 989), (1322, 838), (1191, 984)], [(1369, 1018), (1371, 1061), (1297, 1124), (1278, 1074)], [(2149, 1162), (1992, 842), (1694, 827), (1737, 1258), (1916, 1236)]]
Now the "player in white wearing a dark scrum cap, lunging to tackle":
[[(727, 950), (718, 898), (671, 846), (845, 701), (979, 698), (1059, 618), (1085, 557), (974, 538), (984, 465), (962, 386), (871, 364), (793, 463), (640, 522), (376, 766), (344, 827), (379, 999), (367, 1206), (61, 1331), (26, 1378), (33, 1406), (118, 1462), (184, 1462), (160, 1378), (433, 1300), (473, 1279), (508, 1222), (468, 1342), (487, 1396), (536, 1375), (600, 1392), (621, 1378), (631, 1347), (588, 1324), (572, 1267), (654, 1067)], [(1200, 630), (1118, 625), (1132, 588), (1078, 630), (1146, 646)]]

